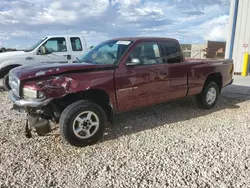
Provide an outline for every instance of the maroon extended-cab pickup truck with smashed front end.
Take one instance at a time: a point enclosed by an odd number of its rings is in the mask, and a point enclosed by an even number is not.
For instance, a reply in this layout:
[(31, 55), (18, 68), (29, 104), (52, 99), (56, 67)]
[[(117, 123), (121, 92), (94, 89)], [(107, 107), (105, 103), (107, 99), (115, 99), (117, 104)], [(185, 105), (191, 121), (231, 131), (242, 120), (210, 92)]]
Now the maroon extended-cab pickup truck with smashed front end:
[(27, 137), (31, 130), (49, 133), (54, 122), (67, 142), (83, 147), (97, 142), (120, 112), (192, 95), (212, 108), (233, 69), (232, 60), (185, 60), (175, 39), (118, 38), (74, 64), (12, 69), (9, 98), (27, 112)]

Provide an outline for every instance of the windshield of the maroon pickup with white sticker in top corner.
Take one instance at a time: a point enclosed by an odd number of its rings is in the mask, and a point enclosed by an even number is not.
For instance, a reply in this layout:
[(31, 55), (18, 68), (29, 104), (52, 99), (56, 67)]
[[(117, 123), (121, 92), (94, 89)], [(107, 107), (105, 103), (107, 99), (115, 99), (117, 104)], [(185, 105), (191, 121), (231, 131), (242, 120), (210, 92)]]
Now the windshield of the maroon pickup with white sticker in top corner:
[(79, 61), (93, 64), (116, 64), (131, 44), (132, 41), (105, 41), (80, 57)]

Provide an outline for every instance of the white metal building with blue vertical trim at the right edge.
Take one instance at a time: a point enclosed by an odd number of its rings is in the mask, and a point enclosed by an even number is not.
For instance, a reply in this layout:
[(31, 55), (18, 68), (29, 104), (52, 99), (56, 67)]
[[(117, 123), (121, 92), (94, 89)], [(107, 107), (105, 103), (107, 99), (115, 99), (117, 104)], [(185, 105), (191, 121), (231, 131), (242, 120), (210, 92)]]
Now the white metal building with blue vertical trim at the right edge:
[[(243, 54), (250, 53), (250, 0), (231, 0), (225, 58), (233, 58), (234, 71), (242, 72)], [(249, 66), (250, 67), (250, 66)], [(249, 68), (250, 70), (250, 68)], [(249, 71), (250, 72), (250, 71)]]

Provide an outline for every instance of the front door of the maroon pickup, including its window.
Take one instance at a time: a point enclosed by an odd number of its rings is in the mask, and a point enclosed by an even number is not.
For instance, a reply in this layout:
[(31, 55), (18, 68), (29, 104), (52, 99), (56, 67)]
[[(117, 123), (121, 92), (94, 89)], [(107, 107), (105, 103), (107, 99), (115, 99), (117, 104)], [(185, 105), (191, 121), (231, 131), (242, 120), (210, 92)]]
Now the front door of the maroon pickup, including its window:
[(142, 42), (133, 47), (124, 65), (115, 70), (115, 88), (119, 111), (131, 110), (165, 100), (167, 65), (157, 42)]

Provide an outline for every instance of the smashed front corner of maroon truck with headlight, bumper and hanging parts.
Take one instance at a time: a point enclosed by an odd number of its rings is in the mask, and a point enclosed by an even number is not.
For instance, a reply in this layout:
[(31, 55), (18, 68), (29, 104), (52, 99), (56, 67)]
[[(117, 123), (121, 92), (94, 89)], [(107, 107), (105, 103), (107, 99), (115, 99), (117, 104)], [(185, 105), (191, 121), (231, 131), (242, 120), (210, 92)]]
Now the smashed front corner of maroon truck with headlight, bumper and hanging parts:
[(27, 81), (21, 86), (18, 95), (13, 90), (8, 95), (14, 104), (13, 109), (26, 111), (25, 135), (31, 138), (33, 131), (38, 136), (45, 136), (53, 130), (52, 123), (58, 123), (63, 110), (54, 99), (74, 92), (78, 83), (71, 78), (57, 76)]

